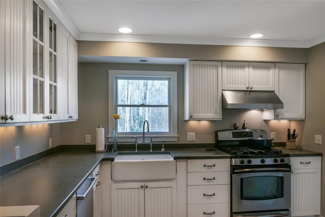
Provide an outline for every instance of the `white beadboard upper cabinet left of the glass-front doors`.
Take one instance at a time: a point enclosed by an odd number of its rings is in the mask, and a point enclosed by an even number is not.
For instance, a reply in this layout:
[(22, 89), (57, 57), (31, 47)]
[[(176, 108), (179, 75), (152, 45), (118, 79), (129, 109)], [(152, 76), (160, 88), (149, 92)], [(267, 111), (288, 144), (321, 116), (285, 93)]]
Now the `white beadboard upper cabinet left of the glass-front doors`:
[(30, 4), (0, 1), (0, 121), (29, 121)]

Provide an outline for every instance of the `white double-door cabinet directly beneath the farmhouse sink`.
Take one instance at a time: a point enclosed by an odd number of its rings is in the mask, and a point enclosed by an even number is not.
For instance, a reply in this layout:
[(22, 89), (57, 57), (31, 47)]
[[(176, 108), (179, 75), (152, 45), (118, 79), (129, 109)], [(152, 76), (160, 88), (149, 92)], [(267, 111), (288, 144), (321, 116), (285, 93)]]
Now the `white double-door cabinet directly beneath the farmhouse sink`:
[(176, 182), (112, 183), (114, 217), (177, 215)]

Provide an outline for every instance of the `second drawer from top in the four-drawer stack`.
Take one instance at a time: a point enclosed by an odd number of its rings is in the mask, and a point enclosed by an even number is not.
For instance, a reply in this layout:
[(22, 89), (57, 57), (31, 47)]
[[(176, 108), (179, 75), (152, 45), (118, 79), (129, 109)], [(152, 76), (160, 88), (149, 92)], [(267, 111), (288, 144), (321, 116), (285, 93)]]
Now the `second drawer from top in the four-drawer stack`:
[(187, 185), (230, 184), (230, 171), (187, 173)]

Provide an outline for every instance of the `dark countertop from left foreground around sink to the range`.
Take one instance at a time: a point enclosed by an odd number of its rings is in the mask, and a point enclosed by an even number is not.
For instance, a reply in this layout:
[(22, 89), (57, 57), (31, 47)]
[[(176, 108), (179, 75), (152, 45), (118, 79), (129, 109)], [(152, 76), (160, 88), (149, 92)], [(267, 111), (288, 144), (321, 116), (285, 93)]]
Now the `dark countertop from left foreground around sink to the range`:
[[(222, 151), (207, 151), (204, 148), (167, 151), (173, 154), (175, 160), (230, 158), (229, 154)], [(40, 205), (42, 217), (56, 216), (91, 171), (102, 160), (114, 161), (116, 154), (94, 153), (90, 150), (55, 152), (2, 176), (0, 206)]]

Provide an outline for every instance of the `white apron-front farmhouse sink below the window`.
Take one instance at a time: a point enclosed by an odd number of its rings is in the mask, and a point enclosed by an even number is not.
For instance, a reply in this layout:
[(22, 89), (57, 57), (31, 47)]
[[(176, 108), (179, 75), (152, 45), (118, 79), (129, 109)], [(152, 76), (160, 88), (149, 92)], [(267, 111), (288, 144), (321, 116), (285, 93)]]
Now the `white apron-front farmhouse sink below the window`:
[(172, 181), (176, 178), (176, 161), (170, 153), (118, 153), (112, 162), (112, 180)]

